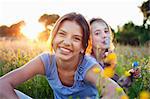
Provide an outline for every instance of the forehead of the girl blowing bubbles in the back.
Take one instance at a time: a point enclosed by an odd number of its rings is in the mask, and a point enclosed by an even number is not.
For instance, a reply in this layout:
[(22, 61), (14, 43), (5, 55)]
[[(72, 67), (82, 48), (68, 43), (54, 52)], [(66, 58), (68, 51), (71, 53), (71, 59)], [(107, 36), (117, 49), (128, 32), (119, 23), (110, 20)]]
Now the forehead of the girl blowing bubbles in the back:
[(103, 21), (95, 21), (91, 24), (92, 30), (97, 30), (97, 29), (108, 29), (108, 26), (105, 22)]

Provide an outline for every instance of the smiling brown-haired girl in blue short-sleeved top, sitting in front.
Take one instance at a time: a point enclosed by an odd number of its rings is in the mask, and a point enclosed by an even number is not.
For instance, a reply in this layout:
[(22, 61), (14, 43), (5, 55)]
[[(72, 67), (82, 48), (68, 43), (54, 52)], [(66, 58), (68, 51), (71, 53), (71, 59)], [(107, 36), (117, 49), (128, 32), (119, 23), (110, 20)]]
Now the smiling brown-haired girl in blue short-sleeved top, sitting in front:
[[(97, 87), (103, 90), (103, 98), (112, 99), (115, 96), (115, 88), (119, 86), (111, 79), (98, 79), (99, 74), (94, 73), (93, 68), (100, 66), (94, 58), (85, 55), (89, 35), (89, 25), (81, 14), (69, 13), (62, 16), (50, 36), (53, 48), (50, 53), (42, 53), (21, 68), (1, 77), (0, 97), (22, 98), (14, 88), (41, 74), (46, 76), (55, 99), (95, 99), (98, 94)], [(102, 80), (107, 81), (107, 85), (97, 83)]]

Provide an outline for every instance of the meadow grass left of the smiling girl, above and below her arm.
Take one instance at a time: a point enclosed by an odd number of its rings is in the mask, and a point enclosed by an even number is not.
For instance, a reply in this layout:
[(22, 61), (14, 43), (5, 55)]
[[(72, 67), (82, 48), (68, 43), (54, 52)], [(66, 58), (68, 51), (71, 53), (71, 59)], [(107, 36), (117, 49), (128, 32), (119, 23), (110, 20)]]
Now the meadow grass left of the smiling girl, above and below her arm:
[[(12, 71), (43, 51), (46, 43), (33, 41), (0, 41), (0, 76)], [(44, 76), (37, 75), (16, 89), (35, 99), (52, 99), (52, 90)]]

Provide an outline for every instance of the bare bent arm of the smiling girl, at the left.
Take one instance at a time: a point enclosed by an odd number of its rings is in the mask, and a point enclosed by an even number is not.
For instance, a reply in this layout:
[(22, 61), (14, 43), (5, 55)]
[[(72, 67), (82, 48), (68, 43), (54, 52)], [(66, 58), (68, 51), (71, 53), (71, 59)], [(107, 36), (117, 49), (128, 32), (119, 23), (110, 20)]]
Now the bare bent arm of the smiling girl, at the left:
[[(44, 75), (44, 65), (40, 57), (36, 57), (24, 66), (9, 72), (0, 78), (0, 97), (16, 99), (14, 88), (36, 74)], [(1, 90), (3, 89), (3, 90)], [(4, 99), (5, 99), (4, 98)]]

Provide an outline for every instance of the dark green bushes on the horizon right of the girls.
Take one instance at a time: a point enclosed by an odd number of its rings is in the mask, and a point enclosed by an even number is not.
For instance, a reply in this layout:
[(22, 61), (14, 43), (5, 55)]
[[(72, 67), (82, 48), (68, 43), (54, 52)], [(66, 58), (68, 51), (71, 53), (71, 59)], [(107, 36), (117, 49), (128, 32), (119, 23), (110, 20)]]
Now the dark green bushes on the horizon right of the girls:
[(118, 28), (115, 37), (120, 44), (144, 45), (150, 41), (150, 26), (146, 29), (129, 22), (124, 24), (122, 28)]

